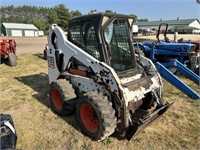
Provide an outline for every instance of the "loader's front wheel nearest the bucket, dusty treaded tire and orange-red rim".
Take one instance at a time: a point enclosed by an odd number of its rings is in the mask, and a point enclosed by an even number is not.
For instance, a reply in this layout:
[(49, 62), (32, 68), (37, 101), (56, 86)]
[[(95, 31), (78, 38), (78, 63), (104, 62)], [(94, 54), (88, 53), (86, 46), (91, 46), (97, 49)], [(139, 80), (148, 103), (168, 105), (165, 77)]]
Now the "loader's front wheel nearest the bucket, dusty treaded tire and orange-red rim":
[[(85, 106), (89, 106), (91, 109), (89, 110)], [(85, 113), (87, 110), (90, 115)], [(115, 110), (108, 97), (102, 93), (95, 91), (85, 94), (77, 104), (76, 113), (83, 132), (93, 140), (101, 141), (115, 131), (117, 121)], [(96, 125), (92, 126), (93, 120), (87, 121), (88, 118), (94, 119), (97, 122), (95, 122)], [(89, 131), (93, 129), (94, 131)]]

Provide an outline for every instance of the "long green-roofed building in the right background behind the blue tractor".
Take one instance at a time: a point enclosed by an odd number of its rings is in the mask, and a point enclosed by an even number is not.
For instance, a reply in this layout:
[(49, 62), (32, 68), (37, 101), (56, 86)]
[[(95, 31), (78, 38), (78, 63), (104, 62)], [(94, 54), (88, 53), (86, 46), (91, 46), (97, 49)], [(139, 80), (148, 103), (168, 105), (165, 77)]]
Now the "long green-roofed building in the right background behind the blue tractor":
[(175, 30), (178, 33), (194, 33), (197, 30), (200, 30), (200, 22), (198, 19), (179, 19), (176, 20), (160, 20), (160, 21), (149, 21), (149, 22), (136, 22), (135, 25), (138, 25), (139, 29), (158, 29), (159, 24), (167, 23), (169, 25), (169, 30), (174, 32)]

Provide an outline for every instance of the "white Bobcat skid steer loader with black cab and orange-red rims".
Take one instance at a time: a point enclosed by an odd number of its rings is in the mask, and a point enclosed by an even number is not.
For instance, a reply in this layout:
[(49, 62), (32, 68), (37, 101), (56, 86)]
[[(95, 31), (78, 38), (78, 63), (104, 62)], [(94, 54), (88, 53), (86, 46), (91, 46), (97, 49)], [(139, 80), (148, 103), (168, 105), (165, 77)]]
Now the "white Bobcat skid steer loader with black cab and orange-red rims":
[(73, 18), (68, 37), (48, 31), (50, 100), (59, 115), (76, 111), (83, 132), (103, 140), (114, 132), (130, 140), (171, 104), (153, 63), (134, 53), (133, 18), (98, 13)]

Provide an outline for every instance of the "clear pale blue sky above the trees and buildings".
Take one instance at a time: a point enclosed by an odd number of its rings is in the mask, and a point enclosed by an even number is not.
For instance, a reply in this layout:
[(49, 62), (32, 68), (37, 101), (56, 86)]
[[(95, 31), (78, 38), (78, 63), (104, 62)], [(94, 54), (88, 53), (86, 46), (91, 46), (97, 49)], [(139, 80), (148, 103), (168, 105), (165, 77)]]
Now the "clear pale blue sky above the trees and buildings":
[(135, 14), (138, 18), (153, 20), (193, 19), (200, 20), (200, 4), (196, 0), (0, 0), (1, 6), (35, 5), (54, 7), (64, 4), (70, 11), (79, 10), (86, 14), (96, 9)]

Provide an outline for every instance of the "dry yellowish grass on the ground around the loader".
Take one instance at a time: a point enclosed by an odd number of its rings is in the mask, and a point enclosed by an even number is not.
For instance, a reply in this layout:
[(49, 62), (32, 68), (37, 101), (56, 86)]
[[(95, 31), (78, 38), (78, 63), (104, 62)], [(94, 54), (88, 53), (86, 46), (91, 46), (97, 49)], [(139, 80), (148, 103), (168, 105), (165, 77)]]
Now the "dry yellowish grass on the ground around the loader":
[[(197, 85), (181, 79), (200, 93)], [(200, 149), (200, 102), (166, 81), (164, 99), (175, 103), (129, 142), (113, 136), (96, 142), (83, 135), (75, 115), (59, 117), (51, 111), (48, 86), (47, 62), (37, 55), (20, 55), (14, 68), (0, 65), (0, 113), (12, 115), (18, 149)]]

